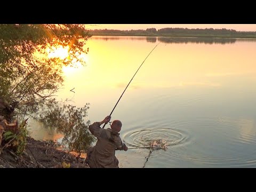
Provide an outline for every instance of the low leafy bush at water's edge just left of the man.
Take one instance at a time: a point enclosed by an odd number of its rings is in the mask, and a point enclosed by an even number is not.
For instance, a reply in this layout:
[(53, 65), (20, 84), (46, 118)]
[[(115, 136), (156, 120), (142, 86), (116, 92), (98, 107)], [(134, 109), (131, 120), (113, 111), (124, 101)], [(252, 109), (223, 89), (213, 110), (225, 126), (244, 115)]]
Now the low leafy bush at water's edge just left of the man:
[(70, 150), (82, 153), (95, 141), (89, 133), (90, 121), (84, 123), (83, 118), (87, 116), (89, 103), (84, 107), (76, 108), (73, 105), (55, 105), (51, 111), (40, 114), (40, 119), (46, 125), (54, 127), (57, 131), (65, 133), (62, 142), (69, 146)]

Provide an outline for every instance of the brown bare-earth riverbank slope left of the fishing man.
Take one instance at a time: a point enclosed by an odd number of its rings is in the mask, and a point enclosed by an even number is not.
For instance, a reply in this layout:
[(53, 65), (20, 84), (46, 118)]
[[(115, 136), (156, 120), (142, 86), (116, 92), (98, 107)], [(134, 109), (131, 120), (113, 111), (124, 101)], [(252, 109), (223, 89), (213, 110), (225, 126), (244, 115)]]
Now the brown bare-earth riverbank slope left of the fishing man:
[(0, 168), (89, 168), (85, 158), (77, 158), (59, 149), (56, 142), (37, 141), (27, 138), (27, 145), (21, 155), (10, 149), (0, 154)]

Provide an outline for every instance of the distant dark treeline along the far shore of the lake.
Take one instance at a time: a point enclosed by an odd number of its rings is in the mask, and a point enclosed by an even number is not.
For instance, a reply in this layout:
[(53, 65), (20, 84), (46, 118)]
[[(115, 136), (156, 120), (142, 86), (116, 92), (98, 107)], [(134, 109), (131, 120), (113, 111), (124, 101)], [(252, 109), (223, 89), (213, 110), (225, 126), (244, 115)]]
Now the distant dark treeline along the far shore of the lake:
[(256, 31), (236, 31), (234, 29), (188, 29), (188, 28), (148, 28), (146, 30), (89, 30), (91, 35), (105, 36), (164, 36), (164, 37), (234, 37), (256, 38)]

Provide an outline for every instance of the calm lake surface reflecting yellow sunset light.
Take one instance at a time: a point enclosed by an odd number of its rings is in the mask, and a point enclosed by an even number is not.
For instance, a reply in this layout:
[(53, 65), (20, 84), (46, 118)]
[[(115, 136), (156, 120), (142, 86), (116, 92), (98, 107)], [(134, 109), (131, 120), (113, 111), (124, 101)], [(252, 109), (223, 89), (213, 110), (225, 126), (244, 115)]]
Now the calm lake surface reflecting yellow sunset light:
[[(110, 114), (129, 147), (164, 139), (168, 146), (117, 151), (120, 167), (256, 167), (254, 39), (94, 36), (87, 66), (63, 68), (59, 99), (82, 107), (87, 121)], [(70, 92), (74, 89), (75, 94)], [(106, 125), (109, 127), (109, 125)], [(44, 128), (36, 139), (61, 138)], [(43, 131), (42, 131), (43, 130)]]

